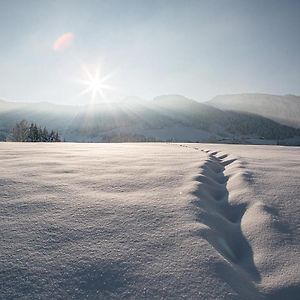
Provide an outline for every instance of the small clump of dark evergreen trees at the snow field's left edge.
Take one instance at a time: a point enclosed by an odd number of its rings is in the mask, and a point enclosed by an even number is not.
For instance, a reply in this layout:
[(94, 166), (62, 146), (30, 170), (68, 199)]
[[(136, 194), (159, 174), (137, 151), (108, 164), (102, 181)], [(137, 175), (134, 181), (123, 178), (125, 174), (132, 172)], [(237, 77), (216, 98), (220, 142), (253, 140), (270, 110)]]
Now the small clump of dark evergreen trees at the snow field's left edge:
[(42, 129), (36, 123), (28, 123), (22, 120), (11, 129), (7, 138), (11, 142), (61, 142), (58, 131)]

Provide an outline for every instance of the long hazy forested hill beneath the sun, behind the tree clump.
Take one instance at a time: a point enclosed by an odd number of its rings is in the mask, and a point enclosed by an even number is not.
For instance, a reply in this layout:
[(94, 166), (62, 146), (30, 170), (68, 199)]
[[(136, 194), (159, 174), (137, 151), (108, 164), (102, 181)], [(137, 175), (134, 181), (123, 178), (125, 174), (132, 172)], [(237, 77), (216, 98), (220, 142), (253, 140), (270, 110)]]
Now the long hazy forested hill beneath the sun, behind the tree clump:
[(93, 106), (0, 101), (0, 138), (25, 119), (58, 130), (67, 141), (201, 141), (276, 143), (300, 130), (262, 116), (223, 111), (180, 95), (127, 98)]

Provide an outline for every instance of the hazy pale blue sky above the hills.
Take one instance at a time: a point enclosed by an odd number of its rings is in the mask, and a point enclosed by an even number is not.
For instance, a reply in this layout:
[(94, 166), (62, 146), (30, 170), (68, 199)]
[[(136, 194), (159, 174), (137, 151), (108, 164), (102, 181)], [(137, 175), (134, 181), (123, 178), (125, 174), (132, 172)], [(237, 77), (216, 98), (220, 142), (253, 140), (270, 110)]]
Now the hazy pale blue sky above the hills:
[(0, 0), (0, 99), (85, 103), (96, 65), (109, 97), (300, 94), (299, 30), (297, 0)]

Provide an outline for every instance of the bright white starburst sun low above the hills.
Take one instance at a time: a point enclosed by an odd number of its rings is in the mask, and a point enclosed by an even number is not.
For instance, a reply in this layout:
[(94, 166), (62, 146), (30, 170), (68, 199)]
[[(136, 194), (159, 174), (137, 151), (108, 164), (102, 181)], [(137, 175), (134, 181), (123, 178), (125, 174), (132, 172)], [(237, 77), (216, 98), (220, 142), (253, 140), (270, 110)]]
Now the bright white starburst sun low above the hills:
[(79, 96), (89, 94), (91, 96), (91, 104), (95, 103), (97, 99), (105, 100), (105, 90), (113, 89), (113, 87), (108, 84), (111, 74), (101, 74), (101, 69), (99, 66), (88, 68), (86, 65), (84, 65), (82, 69), (84, 78), (78, 81), (85, 86), (85, 89), (80, 93)]

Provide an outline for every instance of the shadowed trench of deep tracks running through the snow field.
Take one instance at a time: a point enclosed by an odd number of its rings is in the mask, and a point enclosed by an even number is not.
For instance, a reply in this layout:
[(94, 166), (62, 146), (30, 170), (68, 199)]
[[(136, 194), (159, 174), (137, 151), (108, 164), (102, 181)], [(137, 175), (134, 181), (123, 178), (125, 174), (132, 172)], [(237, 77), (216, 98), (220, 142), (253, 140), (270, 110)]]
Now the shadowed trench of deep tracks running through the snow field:
[(240, 296), (260, 299), (262, 295), (252, 283), (260, 281), (260, 274), (253, 261), (251, 245), (241, 228), (247, 204), (229, 203), (229, 194), (237, 195), (251, 174), (237, 158), (230, 158), (228, 154), (218, 156), (217, 151), (202, 151), (208, 153), (208, 158), (197, 177), (199, 187), (194, 192), (197, 196), (194, 204), (199, 208), (197, 219), (206, 226), (198, 231), (199, 235), (228, 261), (229, 265), (223, 264), (223, 267), (238, 275), (235, 288)]

